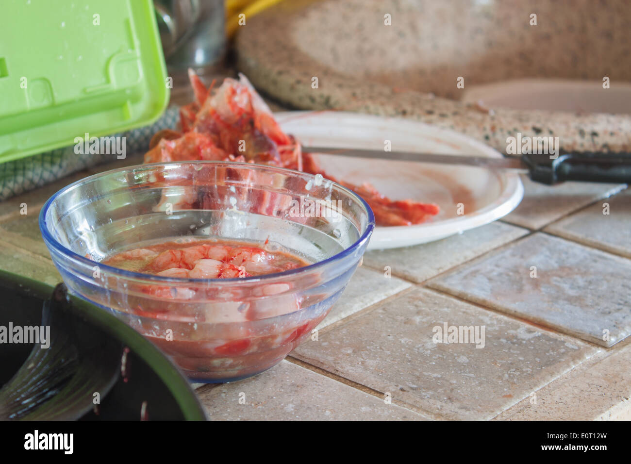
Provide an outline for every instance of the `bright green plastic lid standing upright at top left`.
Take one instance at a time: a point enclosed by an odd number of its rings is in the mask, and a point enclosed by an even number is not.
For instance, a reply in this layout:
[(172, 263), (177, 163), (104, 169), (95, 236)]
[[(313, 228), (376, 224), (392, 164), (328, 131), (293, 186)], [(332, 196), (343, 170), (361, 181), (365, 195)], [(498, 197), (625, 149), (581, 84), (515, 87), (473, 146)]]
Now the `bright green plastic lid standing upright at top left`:
[(151, 0), (8, 0), (0, 163), (155, 121), (167, 71)]

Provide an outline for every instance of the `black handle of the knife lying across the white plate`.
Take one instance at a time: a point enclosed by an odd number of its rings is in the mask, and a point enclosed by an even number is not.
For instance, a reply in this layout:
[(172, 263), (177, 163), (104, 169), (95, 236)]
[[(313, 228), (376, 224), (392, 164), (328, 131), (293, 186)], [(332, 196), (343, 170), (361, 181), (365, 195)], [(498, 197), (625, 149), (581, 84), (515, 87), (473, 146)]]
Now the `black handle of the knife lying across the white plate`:
[(542, 184), (564, 181), (613, 182), (631, 184), (631, 153), (559, 152), (550, 155), (526, 154), (522, 159), (530, 178)]

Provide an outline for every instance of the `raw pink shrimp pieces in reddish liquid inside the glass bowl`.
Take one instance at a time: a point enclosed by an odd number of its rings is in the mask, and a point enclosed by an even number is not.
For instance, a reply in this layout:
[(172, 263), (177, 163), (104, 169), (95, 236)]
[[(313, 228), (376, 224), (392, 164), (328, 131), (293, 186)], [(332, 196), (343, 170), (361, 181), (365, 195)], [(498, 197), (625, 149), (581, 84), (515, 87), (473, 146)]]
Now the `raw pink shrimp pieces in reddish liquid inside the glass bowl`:
[[(180, 239), (122, 251), (105, 259), (103, 264), (160, 277), (205, 280), (282, 273), (309, 263), (286, 252), (270, 252), (243, 242)], [(189, 332), (190, 323), (193, 322), (193, 328), (212, 324), (215, 331), (221, 332), (221, 336), (209, 336), (201, 342), (182, 336), (168, 339), (153, 335), (151, 328), (142, 324), (136, 328), (174, 356), (180, 367), (192, 378), (199, 379), (199, 371), (208, 379), (213, 376), (216, 367), (235, 369), (238, 366), (239, 376), (247, 376), (251, 372), (249, 366), (253, 364), (257, 369), (269, 359), (270, 352), (274, 357), (280, 354), (284, 357), (324, 317), (324, 314), (319, 314), (312, 319), (298, 319), (298, 325), (292, 323), (287, 327), (280, 324), (280, 330), (268, 330), (264, 336), (255, 336), (251, 328), (245, 329), (245, 326), (256, 324), (256, 321), (281, 319), (282, 316), (299, 311), (302, 298), (292, 292), (293, 285), (291, 281), (258, 285), (249, 294), (225, 289), (223, 292), (228, 297), (226, 301), (202, 306), (199, 306), (198, 300), (218, 296), (212, 287), (191, 285), (179, 287), (174, 292), (170, 285), (145, 285), (139, 290), (154, 300), (150, 306), (133, 306), (138, 316), (151, 319), (162, 316), (174, 326), (179, 326), (169, 316), (174, 315), (174, 307), (178, 307), (183, 299), (196, 311), (187, 312), (190, 320), (182, 324), (180, 334)], [(240, 325), (237, 327), (235, 324)]]

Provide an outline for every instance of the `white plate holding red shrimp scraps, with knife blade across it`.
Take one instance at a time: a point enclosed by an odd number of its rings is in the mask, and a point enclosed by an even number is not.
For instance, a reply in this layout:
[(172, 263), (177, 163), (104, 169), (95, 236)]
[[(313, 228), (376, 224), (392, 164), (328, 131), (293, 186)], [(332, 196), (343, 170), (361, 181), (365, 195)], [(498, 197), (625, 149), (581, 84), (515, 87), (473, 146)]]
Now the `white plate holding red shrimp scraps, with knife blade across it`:
[[(463, 134), (407, 119), (334, 111), (276, 113), (283, 131), (304, 145), (453, 153), (497, 158), (500, 153)], [(318, 155), (334, 177), (370, 182), (391, 199), (436, 203), (440, 213), (420, 225), (376, 227), (369, 249), (418, 245), (480, 227), (507, 215), (524, 194), (519, 175), (478, 167)], [(464, 206), (464, 215), (458, 206)]]

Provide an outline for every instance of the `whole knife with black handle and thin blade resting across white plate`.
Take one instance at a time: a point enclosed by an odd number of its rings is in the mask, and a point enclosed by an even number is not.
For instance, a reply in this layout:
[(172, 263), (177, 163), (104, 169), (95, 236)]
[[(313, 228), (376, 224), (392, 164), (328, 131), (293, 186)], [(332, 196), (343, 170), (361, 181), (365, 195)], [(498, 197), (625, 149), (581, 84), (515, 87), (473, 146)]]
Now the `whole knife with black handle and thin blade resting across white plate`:
[(302, 146), (305, 153), (322, 153), (354, 158), (413, 161), (512, 170), (528, 174), (535, 182), (553, 185), (565, 181), (631, 183), (631, 153), (562, 152), (557, 157), (547, 154), (525, 154), (503, 158), (468, 155), (438, 155), (420, 152), (386, 152), (362, 148)]

